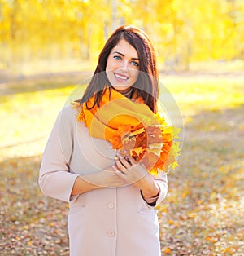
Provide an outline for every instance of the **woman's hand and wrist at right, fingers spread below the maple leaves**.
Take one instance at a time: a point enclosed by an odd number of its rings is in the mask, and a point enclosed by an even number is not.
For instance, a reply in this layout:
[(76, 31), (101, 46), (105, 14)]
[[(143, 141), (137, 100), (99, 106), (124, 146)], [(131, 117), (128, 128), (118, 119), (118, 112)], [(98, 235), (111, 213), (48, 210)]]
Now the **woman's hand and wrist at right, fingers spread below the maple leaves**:
[(115, 157), (115, 166), (112, 167), (120, 179), (124, 179), (126, 183), (140, 188), (145, 200), (159, 193), (159, 187), (153, 176), (148, 173), (145, 166), (137, 163), (133, 157), (121, 157), (118, 154)]

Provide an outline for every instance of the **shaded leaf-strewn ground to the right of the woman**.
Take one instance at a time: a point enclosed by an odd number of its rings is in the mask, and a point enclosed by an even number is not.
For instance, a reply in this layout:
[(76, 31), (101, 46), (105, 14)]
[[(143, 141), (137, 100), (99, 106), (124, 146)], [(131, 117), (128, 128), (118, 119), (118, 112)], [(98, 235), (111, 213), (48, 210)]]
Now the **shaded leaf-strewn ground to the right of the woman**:
[[(159, 205), (162, 255), (244, 255), (243, 111), (203, 111), (185, 125), (181, 167)], [(217, 128), (201, 130), (204, 120)]]

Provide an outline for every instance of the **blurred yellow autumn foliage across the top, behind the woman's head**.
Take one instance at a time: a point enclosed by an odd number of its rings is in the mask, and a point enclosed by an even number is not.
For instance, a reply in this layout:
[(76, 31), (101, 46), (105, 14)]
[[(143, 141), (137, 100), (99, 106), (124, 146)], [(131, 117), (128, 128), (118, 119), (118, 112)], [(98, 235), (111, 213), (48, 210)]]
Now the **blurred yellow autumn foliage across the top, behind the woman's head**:
[(243, 59), (243, 17), (243, 0), (0, 0), (0, 67), (97, 60), (120, 24), (145, 29), (168, 68)]

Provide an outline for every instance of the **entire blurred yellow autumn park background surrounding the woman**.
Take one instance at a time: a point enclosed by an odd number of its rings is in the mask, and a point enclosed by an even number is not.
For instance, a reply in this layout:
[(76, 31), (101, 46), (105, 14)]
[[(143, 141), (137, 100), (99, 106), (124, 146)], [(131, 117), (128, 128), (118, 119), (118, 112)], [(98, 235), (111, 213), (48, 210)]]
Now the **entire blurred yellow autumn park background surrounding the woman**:
[(243, 255), (243, 0), (0, 0), (0, 255), (68, 255), (68, 205), (41, 195), (41, 152), (120, 24), (152, 38), (184, 122), (162, 255)]

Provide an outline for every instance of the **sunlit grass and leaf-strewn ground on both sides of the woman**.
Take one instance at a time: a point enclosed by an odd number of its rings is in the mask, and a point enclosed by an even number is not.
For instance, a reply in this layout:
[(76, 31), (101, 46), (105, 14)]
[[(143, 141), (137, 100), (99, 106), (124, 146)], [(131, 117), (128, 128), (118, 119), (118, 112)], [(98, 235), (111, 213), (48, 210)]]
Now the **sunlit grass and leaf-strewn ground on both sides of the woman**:
[[(161, 80), (185, 127), (181, 167), (168, 174), (168, 197), (159, 205), (162, 254), (241, 255), (244, 77)], [(50, 79), (1, 90), (1, 255), (68, 255), (67, 205), (42, 196), (37, 177), (54, 119), (84, 90), (74, 88)]]

